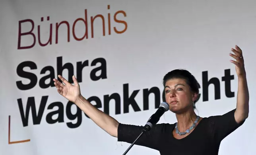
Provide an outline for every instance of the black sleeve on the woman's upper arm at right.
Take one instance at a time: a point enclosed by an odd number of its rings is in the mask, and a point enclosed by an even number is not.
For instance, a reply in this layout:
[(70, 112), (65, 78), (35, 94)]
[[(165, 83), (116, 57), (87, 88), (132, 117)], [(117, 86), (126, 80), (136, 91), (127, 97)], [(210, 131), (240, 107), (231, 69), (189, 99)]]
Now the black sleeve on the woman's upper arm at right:
[(213, 124), (211, 127), (213, 127), (214, 139), (217, 142), (221, 142), (226, 136), (239, 128), (244, 121), (241, 123), (235, 121), (235, 109), (224, 115), (211, 116), (211, 124)]

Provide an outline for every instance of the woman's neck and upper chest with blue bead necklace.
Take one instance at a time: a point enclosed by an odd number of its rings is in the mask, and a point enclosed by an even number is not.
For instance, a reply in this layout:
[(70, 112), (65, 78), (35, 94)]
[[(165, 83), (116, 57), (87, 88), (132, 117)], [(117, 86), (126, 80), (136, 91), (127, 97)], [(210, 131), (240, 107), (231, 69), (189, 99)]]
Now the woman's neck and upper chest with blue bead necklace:
[(178, 121), (178, 130), (180, 132), (184, 132), (185, 130), (189, 129), (194, 121), (196, 121), (196, 117), (197, 115), (194, 110), (190, 110), (181, 114), (176, 114), (176, 118)]

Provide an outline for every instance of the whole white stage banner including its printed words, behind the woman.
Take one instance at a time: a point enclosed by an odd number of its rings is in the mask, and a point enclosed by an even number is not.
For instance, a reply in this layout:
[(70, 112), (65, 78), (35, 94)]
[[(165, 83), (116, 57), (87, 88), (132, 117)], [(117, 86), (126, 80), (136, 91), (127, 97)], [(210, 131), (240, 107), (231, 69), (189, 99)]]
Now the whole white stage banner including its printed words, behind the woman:
[[(163, 101), (163, 76), (184, 68), (200, 83), (196, 113), (227, 113), (236, 107), (238, 83), (229, 53), (239, 45), (250, 114), (219, 154), (255, 155), (255, 6), (253, 0), (1, 0), (0, 154), (121, 155), (130, 146), (59, 95), (57, 74), (69, 81), (74, 74), (82, 95), (119, 122), (145, 125)], [(159, 121), (175, 122), (172, 112)], [(159, 154), (141, 146), (128, 154), (146, 153)]]

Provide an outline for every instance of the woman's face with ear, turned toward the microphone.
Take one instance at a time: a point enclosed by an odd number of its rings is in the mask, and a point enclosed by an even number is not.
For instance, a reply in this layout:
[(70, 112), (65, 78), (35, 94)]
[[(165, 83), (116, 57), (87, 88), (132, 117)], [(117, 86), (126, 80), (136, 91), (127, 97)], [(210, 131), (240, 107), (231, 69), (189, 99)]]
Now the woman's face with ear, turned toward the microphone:
[(169, 79), (165, 83), (165, 100), (174, 113), (183, 113), (190, 108), (193, 109), (193, 101), (197, 94), (190, 90), (189, 85), (184, 79)]

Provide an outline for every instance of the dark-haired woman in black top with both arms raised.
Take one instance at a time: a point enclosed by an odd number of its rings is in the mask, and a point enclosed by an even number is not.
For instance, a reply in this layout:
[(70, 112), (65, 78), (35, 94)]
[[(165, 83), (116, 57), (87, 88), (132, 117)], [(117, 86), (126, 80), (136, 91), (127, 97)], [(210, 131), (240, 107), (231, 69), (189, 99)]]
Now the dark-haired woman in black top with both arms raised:
[[(187, 70), (172, 70), (163, 77), (165, 100), (169, 110), (176, 114), (173, 124), (156, 124), (145, 132), (136, 145), (156, 149), (161, 155), (217, 155), (221, 141), (242, 125), (249, 113), (249, 93), (242, 50), (235, 46), (229, 53), (235, 60), (238, 76), (237, 106), (223, 115), (200, 117), (194, 112), (198, 100), (199, 84)], [(80, 93), (80, 85), (73, 76), (74, 85), (58, 75), (54, 85), (58, 93), (74, 102), (91, 120), (118, 141), (133, 143), (143, 126), (119, 123), (113, 117), (98, 110)]]

